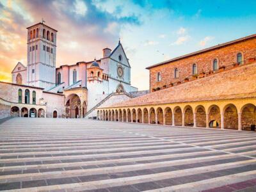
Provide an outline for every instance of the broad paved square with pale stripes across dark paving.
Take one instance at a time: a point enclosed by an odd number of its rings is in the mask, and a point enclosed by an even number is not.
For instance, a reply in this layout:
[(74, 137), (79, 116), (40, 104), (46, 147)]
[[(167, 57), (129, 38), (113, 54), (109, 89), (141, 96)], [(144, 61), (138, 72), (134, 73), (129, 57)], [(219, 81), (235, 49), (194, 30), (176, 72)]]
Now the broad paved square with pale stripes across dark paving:
[(256, 191), (256, 134), (12, 118), (0, 124), (0, 190)]

